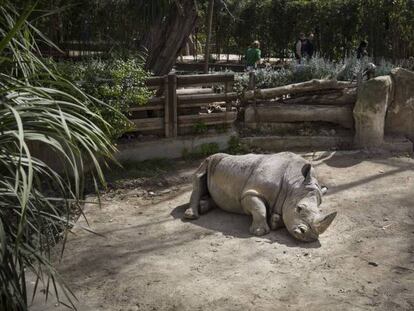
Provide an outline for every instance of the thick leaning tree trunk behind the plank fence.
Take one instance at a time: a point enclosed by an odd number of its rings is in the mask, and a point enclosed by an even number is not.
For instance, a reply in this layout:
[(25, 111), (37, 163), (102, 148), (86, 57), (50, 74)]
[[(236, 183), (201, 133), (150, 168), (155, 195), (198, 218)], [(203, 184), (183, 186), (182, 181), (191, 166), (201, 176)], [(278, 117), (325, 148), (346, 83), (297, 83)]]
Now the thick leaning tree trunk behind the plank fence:
[(197, 20), (194, 0), (176, 0), (169, 12), (152, 24), (142, 44), (147, 53), (145, 67), (155, 75), (171, 71)]

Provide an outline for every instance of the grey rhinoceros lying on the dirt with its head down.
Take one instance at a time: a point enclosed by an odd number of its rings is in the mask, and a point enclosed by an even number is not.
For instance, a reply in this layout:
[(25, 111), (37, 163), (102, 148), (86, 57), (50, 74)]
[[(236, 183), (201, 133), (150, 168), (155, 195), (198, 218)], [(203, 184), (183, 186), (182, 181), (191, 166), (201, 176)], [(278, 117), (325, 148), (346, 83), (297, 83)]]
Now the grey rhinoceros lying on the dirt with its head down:
[(264, 235), (283, 226), (301, 241), (315, 241), (336, 212), (322, 215), (321, 187), (311, 164), (291, 152), (214, 154), (193, 177), (184, 218), (197, 219), (213, 207), (252, 216), (250, 233)]

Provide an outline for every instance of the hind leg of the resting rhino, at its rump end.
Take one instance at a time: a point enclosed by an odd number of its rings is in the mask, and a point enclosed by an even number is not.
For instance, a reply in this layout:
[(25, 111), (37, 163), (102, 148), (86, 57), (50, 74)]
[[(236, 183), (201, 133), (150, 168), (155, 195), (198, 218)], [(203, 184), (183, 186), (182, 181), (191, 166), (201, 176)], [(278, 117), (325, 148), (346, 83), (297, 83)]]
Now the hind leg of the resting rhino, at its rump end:
[[(190, 206), (184, 212), (184, 218), (197, 219), (200, 215), (200, 200), (208, 195), (207, 190), (207, 160), (201, 163), (193, 177), (193, 192), (190, 197)], [(203, 203), (205, 206), (205, 203)]]

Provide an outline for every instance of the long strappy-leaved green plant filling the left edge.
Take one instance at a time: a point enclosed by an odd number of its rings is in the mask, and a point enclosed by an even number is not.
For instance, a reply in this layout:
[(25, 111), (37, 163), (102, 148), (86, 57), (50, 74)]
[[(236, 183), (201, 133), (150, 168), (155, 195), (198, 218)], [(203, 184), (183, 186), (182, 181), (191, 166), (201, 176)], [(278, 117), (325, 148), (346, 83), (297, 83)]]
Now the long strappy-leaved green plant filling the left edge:
[(114, 151), (110, 126), (90, 109), (95, 100), (37, 56), (39, 40), (52, 43), (26, 21), (32, 11), (6, 0), (0, 7), (0, 310), (7, 311), (27, 310), (31, 274), (35, 291), (61, 284), (70, 296), (51, 247), (82, 213), (85, 167), (97, 186), (98, 159)]

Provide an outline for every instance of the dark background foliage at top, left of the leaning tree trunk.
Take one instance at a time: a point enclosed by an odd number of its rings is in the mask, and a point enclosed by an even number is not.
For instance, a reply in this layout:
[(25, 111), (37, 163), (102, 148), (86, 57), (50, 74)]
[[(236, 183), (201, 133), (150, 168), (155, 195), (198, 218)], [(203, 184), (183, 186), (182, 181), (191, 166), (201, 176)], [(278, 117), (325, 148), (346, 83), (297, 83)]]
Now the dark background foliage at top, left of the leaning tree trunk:
[[(172, 0), (16, 0), (37, 3), (36, 24), (59, 46), (84, 41), (137, 48), (156, 18), (168, 14)], [(44, 14), (44, 10), (55, 14)]]

